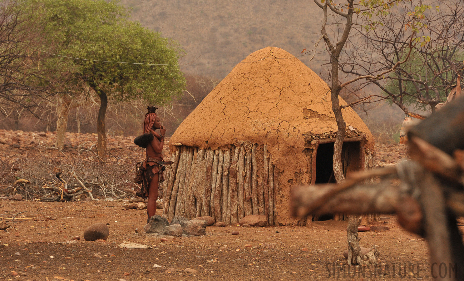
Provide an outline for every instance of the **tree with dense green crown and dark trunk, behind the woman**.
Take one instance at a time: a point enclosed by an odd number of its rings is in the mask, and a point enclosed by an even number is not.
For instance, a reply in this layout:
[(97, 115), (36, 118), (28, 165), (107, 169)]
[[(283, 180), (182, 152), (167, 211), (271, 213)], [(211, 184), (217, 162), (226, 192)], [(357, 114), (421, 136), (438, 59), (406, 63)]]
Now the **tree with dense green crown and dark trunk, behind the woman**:
[[(90, 87), (100, 98), (97, 149), (104, 158), (108, 99), (143, 98), (163, 104), (181, 94), (185, 78), (179, 70), (180, 46), (128, 19), (116, 1), (26, 0), (31, 13), (45, 23), (44, 33), (56, 59), (74, 85)], [(38, 13), (39, 12), (39, 13)]]

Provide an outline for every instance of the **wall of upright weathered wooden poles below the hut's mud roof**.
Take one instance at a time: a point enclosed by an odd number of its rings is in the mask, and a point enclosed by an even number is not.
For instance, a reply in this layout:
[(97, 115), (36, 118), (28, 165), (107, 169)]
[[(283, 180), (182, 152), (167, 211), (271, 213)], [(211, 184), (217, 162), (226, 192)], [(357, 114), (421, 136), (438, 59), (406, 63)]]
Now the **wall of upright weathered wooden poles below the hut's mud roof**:
[(168, 219), (211, 216), (237, 224), (248, 215), (265, 215), (277, 224), (278, 170), (267, 146), (240, 145), (212, 150), (178, 146), (166, 173), (164, 214)]

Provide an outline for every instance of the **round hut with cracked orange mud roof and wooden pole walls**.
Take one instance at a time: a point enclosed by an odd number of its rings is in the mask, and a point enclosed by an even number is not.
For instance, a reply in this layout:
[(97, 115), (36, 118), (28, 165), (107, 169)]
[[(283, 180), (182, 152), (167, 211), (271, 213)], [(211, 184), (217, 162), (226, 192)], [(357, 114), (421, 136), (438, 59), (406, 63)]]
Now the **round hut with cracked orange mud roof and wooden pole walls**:
[[(353, 109), (342, 112), (344, 172), (372, 167), (372, 134)], [(290, 214), (290, 187), (334, 182), (336, 130), (329, 87), (314, 71), (280, 48), (255, 51), (173, 134), (164, 214), (226, 224), (260, 214), (271, 225), (305, 225), (310, 217)]]

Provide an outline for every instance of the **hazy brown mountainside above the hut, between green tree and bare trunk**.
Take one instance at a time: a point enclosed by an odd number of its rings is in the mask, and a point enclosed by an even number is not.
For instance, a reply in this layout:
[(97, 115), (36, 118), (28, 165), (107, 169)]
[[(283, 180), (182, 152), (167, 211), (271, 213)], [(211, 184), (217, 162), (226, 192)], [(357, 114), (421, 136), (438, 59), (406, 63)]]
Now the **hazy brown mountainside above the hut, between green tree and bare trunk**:
[[(122, 0), (143, 26), (174, 38), (187, 55), (182, 64), (189, 73), (225, 77), (253, 51), (276, 46), (293, 55), (312, 49), (318, 38), (321, 9), (307, 0)], [(322, 51), (322, 48), (320, 50)], [(299, 57), (318, 72), (315, 57)]]

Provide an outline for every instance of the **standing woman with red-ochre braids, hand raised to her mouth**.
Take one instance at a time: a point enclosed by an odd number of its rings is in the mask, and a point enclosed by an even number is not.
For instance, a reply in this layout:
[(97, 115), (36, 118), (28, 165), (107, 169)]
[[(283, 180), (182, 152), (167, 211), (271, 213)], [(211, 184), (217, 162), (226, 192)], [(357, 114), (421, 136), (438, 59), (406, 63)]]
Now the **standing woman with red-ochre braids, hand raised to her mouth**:
[[(148, 197), (147, 224), (150, 217), (155, 216), (156, 213), (158, 186), (164, 181), (162, 164), (169, 164), (163, 162), (162, 150), (166, 128), (161, 125), (156, 109), (158, 108), (155, 106), (148, 106), (148, 113), (143, 121), (143, 134), (134, 140), (136, 145), (146, 148), (146, 158), (139, 168), (135, 182), (142, 184), (141, 191), (137, 192), (137, 195), (142, 198)], [(156, 129), (159, 129), (161, 134), (156, 133)]]

